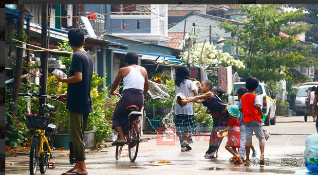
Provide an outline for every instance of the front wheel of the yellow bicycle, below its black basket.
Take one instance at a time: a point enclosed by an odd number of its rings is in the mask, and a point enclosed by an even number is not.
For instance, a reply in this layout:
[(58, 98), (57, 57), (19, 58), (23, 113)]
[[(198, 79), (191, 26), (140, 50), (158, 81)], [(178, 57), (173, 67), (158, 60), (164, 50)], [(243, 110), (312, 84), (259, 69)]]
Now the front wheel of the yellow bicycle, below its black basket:
[(40, 146), (40, 139), (37, 135), (33, 136), (30, 148), (30, 175), (37, 174), (38, 149)]

